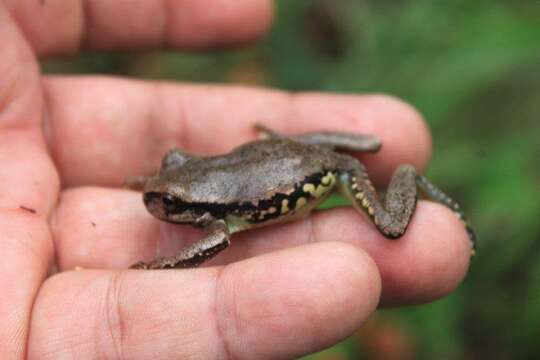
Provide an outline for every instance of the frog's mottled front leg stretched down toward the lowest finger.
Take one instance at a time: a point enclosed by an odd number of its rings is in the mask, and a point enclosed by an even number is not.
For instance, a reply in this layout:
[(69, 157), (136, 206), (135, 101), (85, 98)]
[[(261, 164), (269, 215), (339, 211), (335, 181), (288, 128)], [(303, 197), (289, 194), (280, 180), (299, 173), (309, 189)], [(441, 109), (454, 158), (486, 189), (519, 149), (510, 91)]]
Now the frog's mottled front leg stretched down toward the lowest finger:
[(226, 249), (230, 244), (230, 233), (223, 220), (215, 220), (207, 227), (208, 235), (203, 239), (185, 247), (182, 251), (169, 258), (159, 258), (152, 262), (139, 262), (132, 269), (174, 269), (197, 267), (203, 262)]

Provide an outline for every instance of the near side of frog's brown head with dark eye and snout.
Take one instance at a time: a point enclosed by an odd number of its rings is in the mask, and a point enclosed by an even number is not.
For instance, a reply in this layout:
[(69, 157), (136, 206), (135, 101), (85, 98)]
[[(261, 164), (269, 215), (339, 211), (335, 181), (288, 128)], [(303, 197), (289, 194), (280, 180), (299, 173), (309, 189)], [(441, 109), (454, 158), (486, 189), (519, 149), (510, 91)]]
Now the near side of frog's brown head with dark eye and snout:
[(200, 222), (205, 214), (178, 183), (160, 176), (146, 183), (143, 201), (152, 215), (167, 222), (195, 224)]

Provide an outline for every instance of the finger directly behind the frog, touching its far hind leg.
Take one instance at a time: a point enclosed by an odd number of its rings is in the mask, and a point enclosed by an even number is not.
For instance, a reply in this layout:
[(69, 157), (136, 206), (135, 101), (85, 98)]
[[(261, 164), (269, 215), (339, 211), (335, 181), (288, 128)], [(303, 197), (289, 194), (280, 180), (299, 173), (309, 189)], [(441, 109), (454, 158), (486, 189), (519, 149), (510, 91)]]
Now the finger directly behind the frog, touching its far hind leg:
[(119, 185), (128, 175), (151, 173), (173, 146), (200, 154), (228, 151), (256, 138), (255, 121), (284, 133), (333, 129), (377, 135), (382, 150), (364, 159), (378, 183), (399, 163), (422, 169), (430, 156), (429, 132), (419, 114), (388, 96), (293, 96), (95, 77), (52, 78), (45, 89), (52, 152), (68, 186)]

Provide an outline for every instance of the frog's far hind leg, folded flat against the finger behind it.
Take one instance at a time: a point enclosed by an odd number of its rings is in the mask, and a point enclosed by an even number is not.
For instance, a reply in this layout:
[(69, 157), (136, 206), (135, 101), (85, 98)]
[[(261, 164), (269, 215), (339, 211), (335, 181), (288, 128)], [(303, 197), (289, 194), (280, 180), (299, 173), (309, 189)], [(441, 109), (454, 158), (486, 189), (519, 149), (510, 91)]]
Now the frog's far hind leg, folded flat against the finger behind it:
[(381, 141), (373, 135), (319, 131), (285, 136), (259, 123), (255, 124), (255, 129), (257, 129), (264, 138), (289, 138), (304, 144), (325, 146), (334, 150), (376, 152), (381, 148)]

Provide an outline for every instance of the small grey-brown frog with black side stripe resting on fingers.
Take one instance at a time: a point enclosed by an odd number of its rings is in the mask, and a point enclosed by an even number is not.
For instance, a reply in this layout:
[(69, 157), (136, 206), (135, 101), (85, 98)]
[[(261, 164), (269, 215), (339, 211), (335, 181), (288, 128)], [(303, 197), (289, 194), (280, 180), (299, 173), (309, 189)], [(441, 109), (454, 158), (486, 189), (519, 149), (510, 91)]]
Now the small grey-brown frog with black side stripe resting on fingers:
[(254, 127), (260, 138), (229, 153), (198, 156), (173, 148), (155, 175), (127, 180), (157, 219), (206, 230), (177, 255), (132, 269), (197, 267), (225, 250), (234, 233), (302, 219), (336, 191), (389, 239), (405, 233), (419, 198), (440, 203), (463, 221), (474, 255), (476, 237), (458, 203), (413, 165), (398, 166), (386, 191), (375, 189), (353, 154), (379, 151), (378, 137), (328, 130), (284, 135)]

